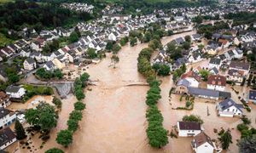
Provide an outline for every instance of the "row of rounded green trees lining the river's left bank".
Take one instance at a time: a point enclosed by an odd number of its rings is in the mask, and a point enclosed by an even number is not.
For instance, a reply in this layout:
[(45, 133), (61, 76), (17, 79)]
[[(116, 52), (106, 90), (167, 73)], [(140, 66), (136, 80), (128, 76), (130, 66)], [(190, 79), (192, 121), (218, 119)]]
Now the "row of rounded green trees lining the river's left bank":
[(56, 138), (56, 142), (64, 147), (73, 143), (73, 133), (78, 130), (79, 121), (83, 118), (82, 111), (85, 109), (85, 104), (81, 100), (85, 98), (83, 89), (86, 88), (89, 77), (89, 74), (84, 73), (80, 77), (76, 78), (74, 82), (74, 94), (79, 101), (74, 103), (74, 110), (69, 114), (67, 129), (61, 130), (57, 133)]

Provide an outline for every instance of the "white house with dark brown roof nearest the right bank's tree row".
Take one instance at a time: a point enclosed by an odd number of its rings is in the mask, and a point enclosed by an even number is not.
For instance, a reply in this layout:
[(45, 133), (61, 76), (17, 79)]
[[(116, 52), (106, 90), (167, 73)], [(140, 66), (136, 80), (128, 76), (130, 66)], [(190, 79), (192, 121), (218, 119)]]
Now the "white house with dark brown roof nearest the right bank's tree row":
[(179, 137), (190, 137), (201, 133), (199, 122), (177, 122), (177, 132)]

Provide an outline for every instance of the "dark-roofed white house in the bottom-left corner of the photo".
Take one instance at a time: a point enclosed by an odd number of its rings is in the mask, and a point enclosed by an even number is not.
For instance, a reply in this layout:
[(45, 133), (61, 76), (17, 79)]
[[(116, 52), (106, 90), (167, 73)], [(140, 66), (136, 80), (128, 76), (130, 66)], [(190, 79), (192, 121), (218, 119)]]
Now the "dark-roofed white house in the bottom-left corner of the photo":
[(10, 144), (13, 144), (17, 141), (15, 133), (9, 128), (6, 127), (0, 131), (0, 150), (4, 150)]

